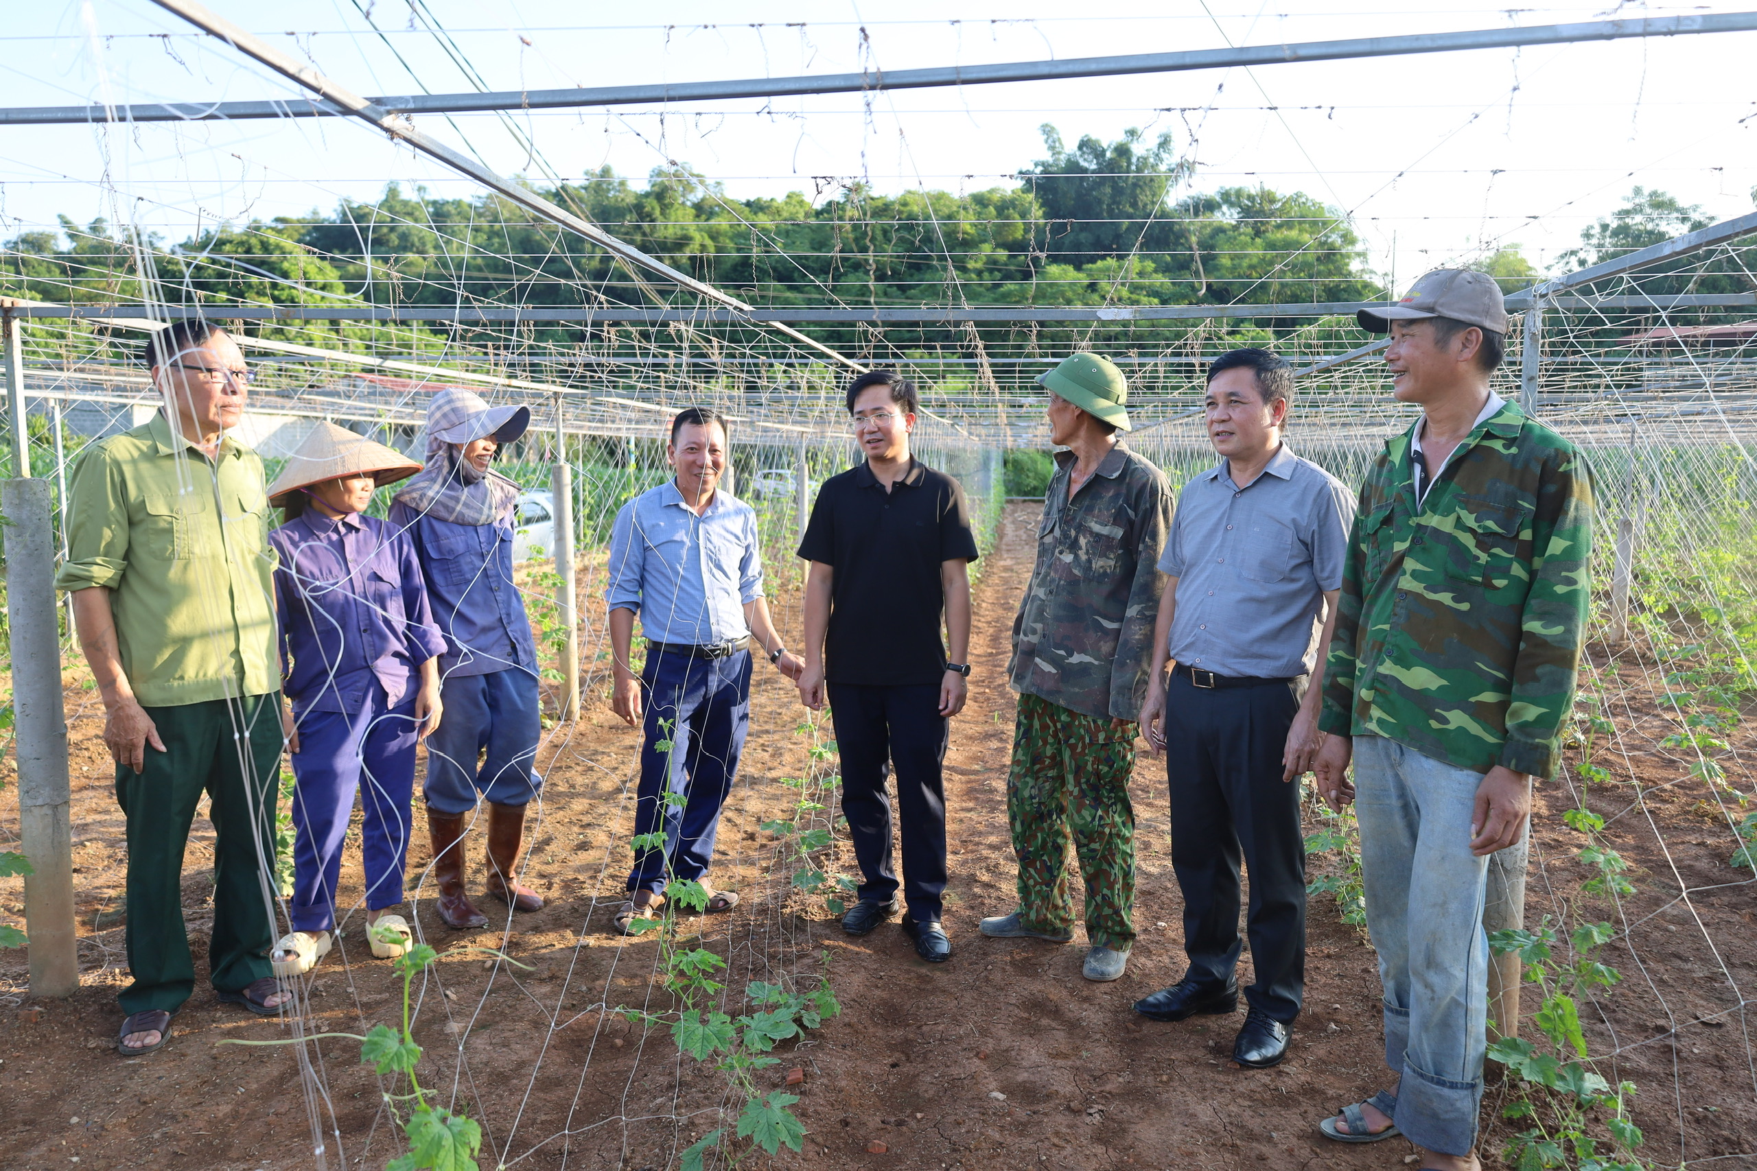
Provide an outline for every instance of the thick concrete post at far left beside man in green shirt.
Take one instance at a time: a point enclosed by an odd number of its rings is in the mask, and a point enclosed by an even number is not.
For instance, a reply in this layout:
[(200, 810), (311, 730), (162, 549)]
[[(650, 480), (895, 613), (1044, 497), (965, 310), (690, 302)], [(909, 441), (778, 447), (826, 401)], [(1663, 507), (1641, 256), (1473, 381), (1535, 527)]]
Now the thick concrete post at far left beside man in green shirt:
[(25, 876), (30, 994), (61, 997), (79, 988), (79, 959), (49, 481), (7, 479), (0, 485), (0, 513), (11, 521), (5, 528), (5, 616), (12, 634), (18, 822), (33, 871)]

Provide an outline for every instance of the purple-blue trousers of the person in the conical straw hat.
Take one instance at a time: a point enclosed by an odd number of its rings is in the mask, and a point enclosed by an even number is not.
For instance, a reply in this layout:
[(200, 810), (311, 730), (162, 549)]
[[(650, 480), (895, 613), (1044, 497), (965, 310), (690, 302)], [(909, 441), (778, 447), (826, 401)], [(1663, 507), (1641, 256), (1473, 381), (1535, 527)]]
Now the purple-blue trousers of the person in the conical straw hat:
[(371, 688), (360, 711), (306, 711), (293, 753), (293, 930), (336, 927), (341, 844), (360, 794), (365, 908), (402, 902), (415, 792), (415, 697), (387, 708)]

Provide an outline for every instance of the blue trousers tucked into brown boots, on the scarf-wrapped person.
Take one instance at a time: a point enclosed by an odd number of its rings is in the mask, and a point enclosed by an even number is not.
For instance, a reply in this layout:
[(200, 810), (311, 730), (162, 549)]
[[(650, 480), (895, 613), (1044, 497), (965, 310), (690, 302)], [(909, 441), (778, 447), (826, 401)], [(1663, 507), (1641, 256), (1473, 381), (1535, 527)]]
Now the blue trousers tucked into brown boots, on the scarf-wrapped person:
[(543, 788), (532, 769), (543, 736), (538, 678), (524, 667), (446, 676), (439, 700), (445, 711), (427, 737), (427, 804), (452, 816), (474, 809), (478, 792), (497, 806), (529, 804)]

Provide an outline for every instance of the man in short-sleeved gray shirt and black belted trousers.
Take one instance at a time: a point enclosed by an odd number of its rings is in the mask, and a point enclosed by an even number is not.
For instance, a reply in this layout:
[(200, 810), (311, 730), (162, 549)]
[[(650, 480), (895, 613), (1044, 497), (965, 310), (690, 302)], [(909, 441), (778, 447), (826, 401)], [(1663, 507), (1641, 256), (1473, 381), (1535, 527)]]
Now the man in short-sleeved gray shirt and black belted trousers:
[[(1184, 892), (1184, 978), (1135, 1004), (1154, 1020), (1239, 1008), (1239, 860), (1256, 983), (1232, 1057), (1277, 1064), (1305, 981), (1300, 787), (1318, 753), (1320, 646), (1342, 588), (1353, 495), (1281, 441), (1288, 363), (1233, 349), (1209, 367), (1207, 428), (1225, 456), (1177, 502), (1160, 571), (1140, 727), (1167, 753), (1172, 869)], [(1172, 662), (1167, 681), (1165, 664)]]

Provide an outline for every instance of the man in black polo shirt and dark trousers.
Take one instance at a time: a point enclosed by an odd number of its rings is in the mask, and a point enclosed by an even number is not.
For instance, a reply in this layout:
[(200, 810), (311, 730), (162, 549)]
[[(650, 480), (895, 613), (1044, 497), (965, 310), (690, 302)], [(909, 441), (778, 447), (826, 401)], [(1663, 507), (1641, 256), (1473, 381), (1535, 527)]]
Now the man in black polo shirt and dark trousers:
[[(958, 481), (908, 453), (915, 409), (915, 384), (891, 370), (861, 374), (849, 384), (849, 414), (866, 462), (824, 481), (799, 544), (799, 557), (812, 562), (799, 699), (821, 711), (828, 678), (842, 750), (842, 811), (864, 878), (842, 929), (864, 936), (896, 911), (886, 795), (894, 765), (908, 904), (903, 932), (921, 959), (940, 962), (952, 953), (940, 927), (940, 764), (947, 720), (965, 706), (968, 565), (977, 542)], [(942, 613), (951, 660), (940, 641)]]

